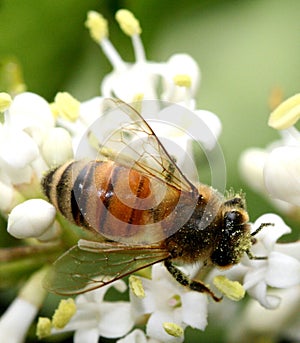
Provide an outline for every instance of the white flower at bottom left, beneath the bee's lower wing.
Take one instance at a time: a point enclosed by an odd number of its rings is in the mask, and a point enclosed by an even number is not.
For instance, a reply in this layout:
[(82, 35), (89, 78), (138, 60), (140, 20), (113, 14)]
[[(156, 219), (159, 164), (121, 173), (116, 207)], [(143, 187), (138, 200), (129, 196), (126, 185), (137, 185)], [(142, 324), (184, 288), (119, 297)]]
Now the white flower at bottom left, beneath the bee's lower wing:
[(119, 280), (77, 296), (75, 315), (63, 329), (53, 329), (52, 332), (75, 331), (75, 343), (97, 343), (99, 337), (117, 338), (126, 335), (135, 323), (131, 304), (126, 301), (105, 301), (104, 295), (110, 287), (120, 292), (126, 290), (124, 281)]

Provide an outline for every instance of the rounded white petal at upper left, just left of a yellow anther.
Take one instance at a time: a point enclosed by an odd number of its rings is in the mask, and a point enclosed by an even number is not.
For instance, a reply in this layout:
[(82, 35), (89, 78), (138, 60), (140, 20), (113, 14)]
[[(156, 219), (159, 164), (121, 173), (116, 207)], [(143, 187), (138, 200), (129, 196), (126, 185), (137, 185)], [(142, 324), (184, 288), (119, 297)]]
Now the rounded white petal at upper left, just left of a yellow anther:
[(26, 92), (17, 95), (9, 109), (11, 124), (21, 130), (37, 127), (44, 131), (54, 125), (48, 102), (37, 94)]

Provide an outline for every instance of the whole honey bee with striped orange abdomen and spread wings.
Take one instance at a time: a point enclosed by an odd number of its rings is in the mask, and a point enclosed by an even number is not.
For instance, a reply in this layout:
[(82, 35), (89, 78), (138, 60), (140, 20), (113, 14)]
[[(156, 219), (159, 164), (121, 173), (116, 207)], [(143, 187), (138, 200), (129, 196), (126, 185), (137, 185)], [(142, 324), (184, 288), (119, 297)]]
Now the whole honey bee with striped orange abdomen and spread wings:
[[(228, 268), (244, 253), (253, 258), (253, 236), (264, 224), (250, 233), (242, 195), (224, 200), (212, 187), (191, 183), (133, 107), (107, 104), (118, 111), (118, 127), (99, 146), (99, 158), (67, 162), (42, 180), (56, 209), (94, 237), (58, 258), (46, 288), (79, 294), (163, 262), (182, 286), (219, 301), (176, 264)], [(116, 113), (106, 116), (110, 121)]]

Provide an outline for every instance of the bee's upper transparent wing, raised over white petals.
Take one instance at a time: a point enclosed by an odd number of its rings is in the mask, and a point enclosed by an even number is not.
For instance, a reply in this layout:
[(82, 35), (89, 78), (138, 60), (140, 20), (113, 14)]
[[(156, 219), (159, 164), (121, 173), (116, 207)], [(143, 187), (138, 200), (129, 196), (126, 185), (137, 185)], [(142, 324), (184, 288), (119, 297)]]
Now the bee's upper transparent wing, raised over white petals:
[[(86, 137), (98, 150), (96, 158), (114, 160), (179, 190), (195, 193), (195, 187), (133, 107), (114, 99), (105, 99), (103, 107), (103, 115), (90, 127)], [(79, 151), (78, 158), (82, 157), (84, 152)]]

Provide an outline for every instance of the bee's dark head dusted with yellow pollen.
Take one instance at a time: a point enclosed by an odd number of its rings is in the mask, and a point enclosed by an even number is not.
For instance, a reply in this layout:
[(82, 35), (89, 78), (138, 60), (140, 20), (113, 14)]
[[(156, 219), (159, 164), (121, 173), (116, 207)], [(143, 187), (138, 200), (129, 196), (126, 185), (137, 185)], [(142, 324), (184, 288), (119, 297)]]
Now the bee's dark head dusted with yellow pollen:
[(248, 219), (247, 212), (239, 206), (223, 213), (222, 229), (217, 233), (215, 249), (210, 256), (213, 264), (230, 267), (249, 251), (252, 241)]

